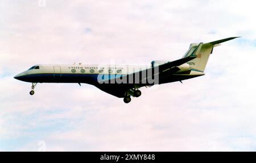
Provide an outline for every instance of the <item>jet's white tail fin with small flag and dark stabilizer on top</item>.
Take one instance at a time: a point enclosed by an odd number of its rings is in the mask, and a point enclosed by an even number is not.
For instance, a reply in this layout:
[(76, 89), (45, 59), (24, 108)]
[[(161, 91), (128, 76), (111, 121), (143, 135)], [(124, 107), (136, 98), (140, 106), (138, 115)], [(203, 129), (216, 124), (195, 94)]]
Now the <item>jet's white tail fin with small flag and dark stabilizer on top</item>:
[(210, 54), (212, 54), (213, 52), (213, 47), (217, 47), (218, 45), (220, 45), (220, 43), (223, 43), (225, 41), (229, 41), (232, 39), (236, 39), (237, 37), (229, 37), (227, 39), (222, 39), (222, 40), (217, 40), (217, 41), (213, 41), (210, 43), (205, 43), (203, 45), (201, 45), (200, 49), (198, 49), (198, 51), (193, 54), (193, 52), (195, 51), (196, 48), (199, 47), (199, 45), (201, 44), (191, 44), (188, 52), (185, 53), (184, 57), (188, 57), (188, 56), (192, 56), (192, 55), (196, 55), (197, 57), (189, 62), (187, 62), (190, 66), (191, 69), (193, 70), (197, 70), (199, 72), (204, 72), (205, 67), (207, 65), (207, 61), (209, 59)]

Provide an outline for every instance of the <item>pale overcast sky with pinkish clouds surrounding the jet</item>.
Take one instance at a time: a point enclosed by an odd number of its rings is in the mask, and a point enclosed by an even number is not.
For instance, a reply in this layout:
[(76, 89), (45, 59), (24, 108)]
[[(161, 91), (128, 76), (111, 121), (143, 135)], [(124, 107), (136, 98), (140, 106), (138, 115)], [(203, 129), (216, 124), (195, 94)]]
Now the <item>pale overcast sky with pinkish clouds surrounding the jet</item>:
[[(254, 1), (0, 1), (0, 151), (256, 151)], [(222, 43), (206, 75), (128, 105), (82, 84), (13, 77), (35, 64), (150, 64)]]

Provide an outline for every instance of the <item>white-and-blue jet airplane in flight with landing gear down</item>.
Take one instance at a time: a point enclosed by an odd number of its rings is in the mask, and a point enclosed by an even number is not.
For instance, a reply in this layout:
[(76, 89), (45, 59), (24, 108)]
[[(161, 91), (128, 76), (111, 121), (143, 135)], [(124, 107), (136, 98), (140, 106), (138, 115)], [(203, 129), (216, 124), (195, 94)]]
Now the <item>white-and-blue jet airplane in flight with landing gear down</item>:
[(80, 86), (81, 83), (87, 83), (129, 103), (131, 97), (141, 96), (141, 87), (177, 81), (182, 83), (183, 80), (204, 76), (213, 48), (236, 38), (229, 37), (210, 43), (192, 43), (179, 60), (155, 60), (150, 66), (39, 64), (17, 74), (14, 78), (32, 83), (30, 95), (35, 94), (37, 83), (79, 83)]

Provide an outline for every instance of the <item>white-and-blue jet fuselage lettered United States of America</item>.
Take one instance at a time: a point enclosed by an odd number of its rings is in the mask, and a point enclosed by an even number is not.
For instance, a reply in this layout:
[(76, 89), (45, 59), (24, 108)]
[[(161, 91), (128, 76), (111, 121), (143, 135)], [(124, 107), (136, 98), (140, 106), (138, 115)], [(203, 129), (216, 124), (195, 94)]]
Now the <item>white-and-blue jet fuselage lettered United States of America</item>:
[[(148, 66), (129, 65), (35, 65), (15, 76), (16, 79), (26, 82), (67, 82), (91, 83), (98, 82), (98, 76), (105, 76), (104, 80), (126, 76), (146, 70)], [(176, 76), (201, 76), (204, 73), (191, 71), (188, 64), (178, 67)], [(188, 72), (189, 73), (183, 73)], [(106, 78), (107, 77), (107, 78)]]

